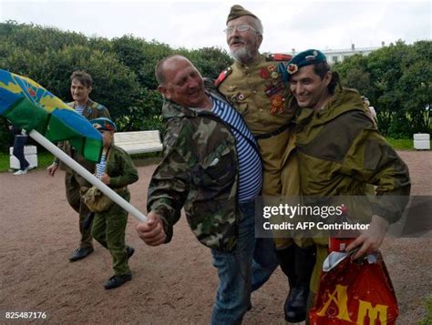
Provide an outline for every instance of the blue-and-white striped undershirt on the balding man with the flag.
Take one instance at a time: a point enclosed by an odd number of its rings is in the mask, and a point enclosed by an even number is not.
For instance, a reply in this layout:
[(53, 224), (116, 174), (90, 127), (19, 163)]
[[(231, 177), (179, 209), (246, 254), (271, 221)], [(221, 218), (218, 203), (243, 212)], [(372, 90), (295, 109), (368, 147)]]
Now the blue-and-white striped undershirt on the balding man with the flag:
[(239, 203), (250, 201), (260, 194), (262, 188), (261, 158), (250, 143), (251, 141), (256, 144), (255, 139), (246, 127), (242, 116), (231, 105), (213, 96), (211, 100), (213, 102), (211, 112), (221, 117), (221, 120), (231, 127), (236, 139), (239, 159)]

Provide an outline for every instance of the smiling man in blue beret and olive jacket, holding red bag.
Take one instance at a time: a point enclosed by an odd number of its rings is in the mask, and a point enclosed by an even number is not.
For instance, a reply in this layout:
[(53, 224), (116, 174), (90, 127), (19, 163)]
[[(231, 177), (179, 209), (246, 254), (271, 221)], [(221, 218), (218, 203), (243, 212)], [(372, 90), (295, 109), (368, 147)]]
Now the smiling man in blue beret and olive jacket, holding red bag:
[[(300, 113), (284, 162), (295, 172), (285, 174), (283, 182), (290, 188), (284, 188), (283, 195), (364, 196), (375, 186), (379, 200), (368, 216), (372, 216), (369, 229), (346, 248), (358, 249), (353, 259), (375, 252), (389, 223), (400, 218), (406, 206), (410, 191), (406, 164), (367, 116), (361, 96), (340, 86), (339, 76), (330, 70), (322, 52), (312, 49), (294, 56), (287, 72), (293, 105)], [(310, 304), (327, 256), (328, 238), (314, 238), (314, 244), (317, 255)]]

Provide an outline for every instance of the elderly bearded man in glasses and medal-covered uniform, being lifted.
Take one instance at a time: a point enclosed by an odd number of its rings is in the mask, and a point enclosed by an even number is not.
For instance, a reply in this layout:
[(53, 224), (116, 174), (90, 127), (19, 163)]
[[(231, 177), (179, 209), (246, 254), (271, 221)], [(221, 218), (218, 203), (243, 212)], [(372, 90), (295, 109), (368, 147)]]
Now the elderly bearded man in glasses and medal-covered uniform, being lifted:
[[(258, 140), (264, 169), (262, 194), (280, 196), (284, 185), (282, 161), (294, 112), (289, 109), (290, 89), (278, 63), (288, 62), (291, 56), (260, 54), (262, 23), (241, 5), (231, 7), (225, 32), (234, 64), (221, 73), (216, 85)], [(300, 249), (293, 242), (278, 239), (275, 243), (279, 263), (290, 283), (285, 320), (304, 320), (314, 248)]]

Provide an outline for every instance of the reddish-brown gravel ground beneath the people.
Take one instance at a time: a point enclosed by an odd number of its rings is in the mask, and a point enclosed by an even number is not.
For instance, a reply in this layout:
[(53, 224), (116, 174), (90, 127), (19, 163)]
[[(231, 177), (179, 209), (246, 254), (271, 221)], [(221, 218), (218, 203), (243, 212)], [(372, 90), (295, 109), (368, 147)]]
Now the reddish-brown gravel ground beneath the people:
[[(432, 152), (400, 155), (410, 168), (413, 194), (432, 195)], [(141, 211), (154, 168), (140, 167), (140, 180), (130, 187), (132, 203)], [(0, 211), (0, 323), (17, 323), (6, 321), (5, 311), (44, 311), (51, 324), (209, 322), (217, 275), (209, 250), (183, 218), (169, 245), (149, 248), (129, 217), (127, 242), (137, 249), (130, 259), (133, 279), (106, 291), (102, 285), (112, 275), (108, 251), (95, 243), (87, 259), (68, 261), (77, 248), (78, 230), (64, 195), (63, 174), (0, 174)], [(425, 315), (422, 301), (432, 292), (431, 237), (429, 232), (420, 239), (386, 239), (382, 249), (399, 300), (399, 324), (415, 324)], [(253, 309), (244, 323), (283, 324), (287, 290), (278, 269), (253, 294)]]

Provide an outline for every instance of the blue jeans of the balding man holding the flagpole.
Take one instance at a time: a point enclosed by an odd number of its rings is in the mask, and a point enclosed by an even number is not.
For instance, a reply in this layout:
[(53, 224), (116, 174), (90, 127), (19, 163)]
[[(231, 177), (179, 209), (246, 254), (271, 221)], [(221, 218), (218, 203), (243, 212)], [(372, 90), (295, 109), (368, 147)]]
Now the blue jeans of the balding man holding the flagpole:
[(211, 324), (240, 324), (250, 310), (252, 290), (259, 289), (277, 268), (273, 239), (255, 238), (254, 202), (240, 205), (242, 219), (237, 245), (231, 252), (211, 249), (219, 287)]

